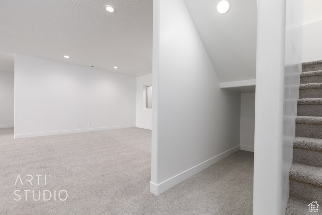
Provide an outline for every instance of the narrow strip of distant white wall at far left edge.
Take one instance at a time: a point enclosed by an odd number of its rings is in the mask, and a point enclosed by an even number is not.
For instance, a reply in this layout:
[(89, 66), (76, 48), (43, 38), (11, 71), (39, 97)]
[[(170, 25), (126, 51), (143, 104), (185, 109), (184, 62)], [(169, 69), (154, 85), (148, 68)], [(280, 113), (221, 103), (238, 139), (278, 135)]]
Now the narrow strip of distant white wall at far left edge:
[(0, 71), (0, 128), (14, 127), (14, 73)]

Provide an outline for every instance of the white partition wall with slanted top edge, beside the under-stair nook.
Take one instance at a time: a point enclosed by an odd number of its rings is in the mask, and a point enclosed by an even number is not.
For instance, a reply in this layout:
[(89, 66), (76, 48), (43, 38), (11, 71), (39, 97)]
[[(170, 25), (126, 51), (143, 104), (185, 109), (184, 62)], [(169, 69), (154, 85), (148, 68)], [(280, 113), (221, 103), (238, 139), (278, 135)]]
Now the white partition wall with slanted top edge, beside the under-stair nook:
[(240, 149), (240, 93), (219, 88), (183, 0), (153, 7), (150, 191), (159, 195)]

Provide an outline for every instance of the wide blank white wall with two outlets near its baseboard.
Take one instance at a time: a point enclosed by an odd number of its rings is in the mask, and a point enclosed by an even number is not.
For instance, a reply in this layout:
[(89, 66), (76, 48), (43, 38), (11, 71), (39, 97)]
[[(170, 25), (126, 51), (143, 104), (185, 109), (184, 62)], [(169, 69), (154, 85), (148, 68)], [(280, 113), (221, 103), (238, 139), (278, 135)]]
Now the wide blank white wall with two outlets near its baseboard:
[(135, 127), (135, 105), (135, 77), (15, 55), (15, 138)]

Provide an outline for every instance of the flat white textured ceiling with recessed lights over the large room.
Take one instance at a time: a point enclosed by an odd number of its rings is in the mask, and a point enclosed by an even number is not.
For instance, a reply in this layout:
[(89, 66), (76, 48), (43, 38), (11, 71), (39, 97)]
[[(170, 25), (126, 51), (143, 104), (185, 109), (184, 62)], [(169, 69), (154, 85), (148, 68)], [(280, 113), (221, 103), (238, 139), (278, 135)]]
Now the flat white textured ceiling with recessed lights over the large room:
[(13, 69), (16, 53), (132, 76), (152, 73), (152, 3), (1, 0), (0, 71)]

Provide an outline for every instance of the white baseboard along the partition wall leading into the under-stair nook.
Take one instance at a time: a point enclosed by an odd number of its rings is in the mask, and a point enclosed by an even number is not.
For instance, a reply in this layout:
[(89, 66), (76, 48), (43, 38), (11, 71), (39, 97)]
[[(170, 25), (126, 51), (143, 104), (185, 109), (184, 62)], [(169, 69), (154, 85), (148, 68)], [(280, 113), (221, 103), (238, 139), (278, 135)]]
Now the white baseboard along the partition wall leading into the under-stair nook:
[(170, 189), (171, 187), (174, 187), (175, 185), (179, 184), (182, 181), (185, 181), (186, 179), (190, 178), (191, 176), (197, 174), (198, 172), (206, 169), (207, 167), (213, 165), (214, 163), (224, 159), (225, 157), (231, 155), (232, 153), (235, 153), (236, 151), (240, 150), (240, 145), (236, 146), (230, 150), (227, 150), (207, 161), (204, 161), (189, 170), (186, 170), (162, 183), (155, 184), (152, 181), (150, 181), (150, 192), (154, 195), (158, 196), (161, 193), (165, 192), (166, 190)]

